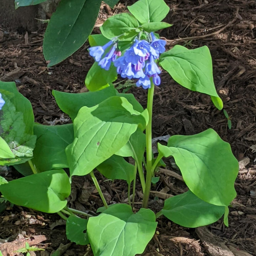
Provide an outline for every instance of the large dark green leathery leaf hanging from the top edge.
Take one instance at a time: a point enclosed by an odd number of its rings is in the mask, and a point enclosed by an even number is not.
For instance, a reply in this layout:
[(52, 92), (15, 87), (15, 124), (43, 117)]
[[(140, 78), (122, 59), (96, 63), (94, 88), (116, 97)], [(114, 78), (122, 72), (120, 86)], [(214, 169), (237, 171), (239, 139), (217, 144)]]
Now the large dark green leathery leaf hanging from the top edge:
[(43, 53), (53, 66), (78, 50), (89, 37), (101, 0), (62, 0), (44, 34)]

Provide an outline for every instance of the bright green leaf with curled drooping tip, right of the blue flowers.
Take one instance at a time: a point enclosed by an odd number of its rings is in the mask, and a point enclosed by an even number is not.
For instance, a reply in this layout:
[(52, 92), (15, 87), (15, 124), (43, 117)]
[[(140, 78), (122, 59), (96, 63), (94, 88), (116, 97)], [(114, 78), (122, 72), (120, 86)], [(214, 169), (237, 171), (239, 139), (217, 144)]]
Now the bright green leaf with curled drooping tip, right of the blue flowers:
[(176, 45), (160, 55), (159, 65), (183, 87), (208, 94), (218, 109), (223, 107), (214, 86), (212, 58), (207, 46), (189, 50)]

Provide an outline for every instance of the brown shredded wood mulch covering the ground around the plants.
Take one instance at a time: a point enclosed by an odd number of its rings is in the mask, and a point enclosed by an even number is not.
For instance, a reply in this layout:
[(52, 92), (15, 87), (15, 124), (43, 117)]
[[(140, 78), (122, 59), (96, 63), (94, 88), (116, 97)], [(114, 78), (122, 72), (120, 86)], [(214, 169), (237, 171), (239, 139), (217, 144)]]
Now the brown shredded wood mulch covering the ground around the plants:
[[(123, 1), (112, 10), (102, 4), (97, 24), (112, 14), (126, 11), (130, 3)], [(174, 25), (160, 31), (160, 36), (166, 38), (167, 49), (175, 44), (190, 49), (204, 45), (209, 47), (215, 86), (232, 127), (228, 128), (223, 111), (213, 106), (209, 96), (181, 87), (162, 72), (162, 84), (156, 87), (154, 95), (153, 137), (189, 135), (213, 128), (223, 140), (230, 143), (240, 161), (235, 183), (238, 196), (230, 207), (229, 227), (224, 226), (223, 219), (220, 219), (206, 228), (188, 229), (160, 217), (158, 232), (143, 255), (256, 256), (256, 2), (166, 0), (166, 3), (171, 10), (165, 21)], [(96, 26), (94, 33), (98, 32)], [(63, 124), (68, 122), (67, 116), (63, 116), (56, 105), (52, 90), (86, 91), (84, 79), (93, 61), (88, 56), (89, 44), (86, 42), (71, 57), (47, 68), (42, 53), (43, 33), (35, 31), (27, 38), (24, 34), (9, 31), (2, 24), (0, 80), (16, 82), (18, 90), (31, 101), (36, 122)], [(128, 92), (132, 92), (146, 106), (145, 90), (133, 87)], [(8, 170), (7, 178), (18, 177), (13, 169)], [(150, 196), (150, 204), (154, 205), (156, 211), (166, 194), (175, 195), (186, 190), (177, 176), (166, 175), (164, 171), (159, 176), (160, 182), (154, 190), (161, 193)], [(97, 178), (108, 202), (125, 202), (127, 188), (124, 182), (103, 182), (105, 178), (100, 174), (97, 174)], [(75, 179), (72, 186), (71, 206), (92, 211), (102, 206), (89, 177)], [(136, 201), (138, 204), (141, 202), (140, 193)], [(37, 255), (50, 255), (60, 244), (66, 245), (63, 255), (92, 255), (90, 247), (69, 243), (64, 223), (58, 215), (9, 206), (1, 213), (0, 222), (1, 243), (7, 238), (11, 242), (44, 235), (47, 240), (40, 242), (38, 247), (46, 251), (36, 252)]]

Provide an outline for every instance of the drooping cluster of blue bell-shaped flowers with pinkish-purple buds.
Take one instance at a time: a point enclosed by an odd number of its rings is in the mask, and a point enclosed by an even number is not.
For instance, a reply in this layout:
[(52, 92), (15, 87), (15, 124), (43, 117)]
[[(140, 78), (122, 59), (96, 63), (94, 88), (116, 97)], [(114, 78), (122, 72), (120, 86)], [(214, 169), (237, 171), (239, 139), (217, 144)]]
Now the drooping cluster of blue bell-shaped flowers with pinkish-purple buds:
[[(112, 41), (104, 46), (89, 48), (89, 53), (101, 68), (109, 70), (111, 62), (113, 62), (117, 73), (122, 78), (137, 78), (136, 85), (148, 89), (151, 84), (150, 79), (155, 85), (160, 85), (161, 70), (155, 60), (165, 51), (166, 44), (164, 40), (156, 38), (154, 33), (150, 33), (149, 38), (149, 42), (135, 38), (132, 46), (123, 55), (118, 50), (117, 43)], [(105, 50), (110, 46), (112, 46), (110, 51), (102, 58)]]

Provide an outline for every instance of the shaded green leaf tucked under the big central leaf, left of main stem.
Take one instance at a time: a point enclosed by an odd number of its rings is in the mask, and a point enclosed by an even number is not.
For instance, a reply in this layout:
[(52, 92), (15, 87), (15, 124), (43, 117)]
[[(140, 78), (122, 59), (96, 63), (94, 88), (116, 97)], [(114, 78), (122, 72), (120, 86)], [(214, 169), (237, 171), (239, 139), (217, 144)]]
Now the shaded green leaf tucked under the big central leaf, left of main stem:
[(112, 155), (96, 169), (111, 180), (125, 180), (130, 184), (134, 179), (134, 165), (129, 164), (122, 156)]

